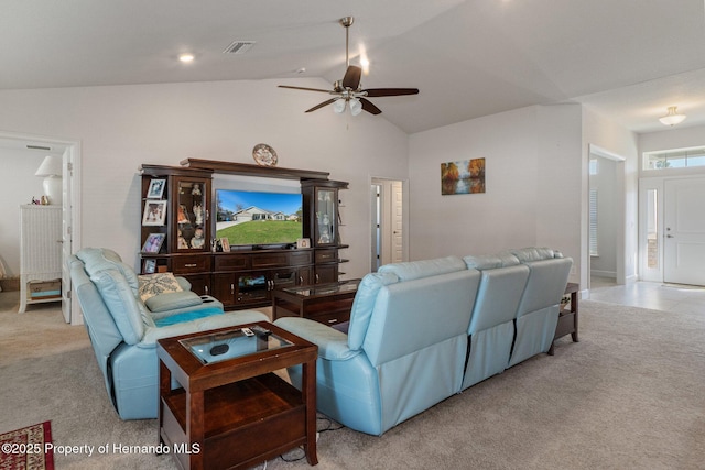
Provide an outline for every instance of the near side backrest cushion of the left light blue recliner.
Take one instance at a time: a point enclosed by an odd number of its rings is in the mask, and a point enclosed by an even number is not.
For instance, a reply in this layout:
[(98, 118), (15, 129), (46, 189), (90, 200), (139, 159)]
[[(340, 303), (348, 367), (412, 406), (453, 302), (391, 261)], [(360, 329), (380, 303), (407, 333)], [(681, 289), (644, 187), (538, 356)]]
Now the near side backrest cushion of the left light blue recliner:
[(118, 270), (102, 270), (91, 275), (90, 281), (98, 287), (124, 342), (140, 342), (144, 335), (142, 313), (122, 273)]

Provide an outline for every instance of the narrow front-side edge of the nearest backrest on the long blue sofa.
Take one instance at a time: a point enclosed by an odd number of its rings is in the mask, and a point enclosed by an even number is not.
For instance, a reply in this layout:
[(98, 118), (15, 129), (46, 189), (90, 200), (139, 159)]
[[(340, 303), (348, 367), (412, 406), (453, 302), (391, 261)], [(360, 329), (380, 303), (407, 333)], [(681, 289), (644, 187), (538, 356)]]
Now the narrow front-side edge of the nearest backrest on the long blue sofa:
[(362, 347), (379, 289), (395, 282), (399, 282), (399, 277), (392, 273), (370, 273), (362, 277), (350, 310), (350, 326), (348, 328), (348, 347), (350, 349), (357, 350)]

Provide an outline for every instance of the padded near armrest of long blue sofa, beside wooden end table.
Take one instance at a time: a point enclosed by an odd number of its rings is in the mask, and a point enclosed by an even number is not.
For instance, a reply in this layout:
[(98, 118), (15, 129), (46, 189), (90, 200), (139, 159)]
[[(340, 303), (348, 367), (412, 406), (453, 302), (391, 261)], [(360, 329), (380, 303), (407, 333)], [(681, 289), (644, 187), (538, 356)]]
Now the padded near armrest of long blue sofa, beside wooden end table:
[(347, 361), (360, 353), (348, 348), (348, 336), (318, 321), (300, 317), (284, 317), (274, 325), (318, 346), (318, 357), (328, 361)]

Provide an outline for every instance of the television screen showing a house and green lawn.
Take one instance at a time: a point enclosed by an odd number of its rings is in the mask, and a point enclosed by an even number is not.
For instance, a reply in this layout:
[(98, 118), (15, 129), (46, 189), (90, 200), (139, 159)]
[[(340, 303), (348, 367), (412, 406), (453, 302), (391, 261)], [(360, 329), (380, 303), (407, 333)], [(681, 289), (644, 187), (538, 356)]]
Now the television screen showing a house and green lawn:
[(216, 238), (232, 245), (289, 244), (302, 237), (302, 196), (216, 189)]

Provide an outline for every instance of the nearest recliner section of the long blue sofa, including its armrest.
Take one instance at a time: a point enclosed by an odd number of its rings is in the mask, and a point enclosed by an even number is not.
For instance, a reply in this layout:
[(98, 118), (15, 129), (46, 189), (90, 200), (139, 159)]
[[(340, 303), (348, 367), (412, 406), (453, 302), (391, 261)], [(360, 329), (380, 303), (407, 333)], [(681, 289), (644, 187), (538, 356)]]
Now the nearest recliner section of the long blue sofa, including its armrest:
[[(460, 391), (479, 278), (456, 256), (389, 264), (360, 282), (347, 335), (304, 318), (275, 325), (318, 345), (318, 411), (381, 435)], [(301, 369), (289, 372), (301, 386)]]

